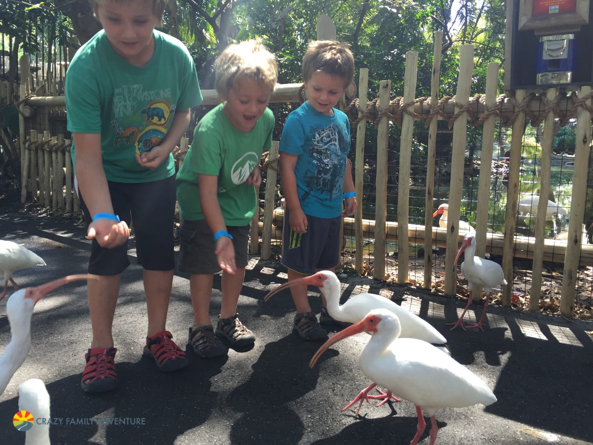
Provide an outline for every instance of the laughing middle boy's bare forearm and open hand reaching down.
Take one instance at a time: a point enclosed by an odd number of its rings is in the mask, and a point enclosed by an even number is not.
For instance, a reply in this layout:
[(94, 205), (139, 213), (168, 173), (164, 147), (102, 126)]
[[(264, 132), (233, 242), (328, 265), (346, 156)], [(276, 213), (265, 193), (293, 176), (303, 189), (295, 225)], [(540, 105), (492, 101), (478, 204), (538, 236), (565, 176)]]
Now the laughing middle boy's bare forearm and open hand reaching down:
[[(221, 206), (218, 202), (218, 176), (199, 174), (197, 181), (200, 190), (200, 204), (202, 205), (206, 224), (208, 224), (212, 233), (227, 231), (227, 224), (224, 221)], [(237, 266), (235, 265), (235, 247), (232, 240), (227, 236), (219, 237), (216, 241), (214, 253), (220, 268), (234, 275)]]

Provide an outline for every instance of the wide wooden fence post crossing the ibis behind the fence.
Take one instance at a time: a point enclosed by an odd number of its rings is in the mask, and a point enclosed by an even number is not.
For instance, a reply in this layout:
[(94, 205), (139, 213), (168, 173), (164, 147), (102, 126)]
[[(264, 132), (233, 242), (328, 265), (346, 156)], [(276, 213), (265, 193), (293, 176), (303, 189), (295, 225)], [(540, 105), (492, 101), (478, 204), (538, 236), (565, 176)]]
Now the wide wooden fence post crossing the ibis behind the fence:
[[(447, 252), (445, 253), (445, 294), (455, 295), (457, 290), (457, 264), (455, 255), (459, 246), (459, 219), (463, 192), (463, 170), (466, 157), (467, 111), (466, 106), (474, 69), (474, 47), (461, 45), (459, 77), (455, 102), (458, 109), (453, 123), (453, 150), (451, 154), (451, 185), (449, 187), (449, 214), (447, 217)], [(478, 295), (482, 297), (482, 295)]]

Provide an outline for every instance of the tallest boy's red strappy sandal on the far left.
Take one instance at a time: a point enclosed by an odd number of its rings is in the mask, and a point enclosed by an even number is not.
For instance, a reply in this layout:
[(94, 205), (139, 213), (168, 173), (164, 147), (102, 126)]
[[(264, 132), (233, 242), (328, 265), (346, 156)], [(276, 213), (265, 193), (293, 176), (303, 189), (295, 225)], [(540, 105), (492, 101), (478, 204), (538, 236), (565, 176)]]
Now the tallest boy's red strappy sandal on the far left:
[(116, 348), (92, 348), (84, 355), (87, 364), (82, 371), (80, 385), (84, 392), (95, 393), (116, 389)]

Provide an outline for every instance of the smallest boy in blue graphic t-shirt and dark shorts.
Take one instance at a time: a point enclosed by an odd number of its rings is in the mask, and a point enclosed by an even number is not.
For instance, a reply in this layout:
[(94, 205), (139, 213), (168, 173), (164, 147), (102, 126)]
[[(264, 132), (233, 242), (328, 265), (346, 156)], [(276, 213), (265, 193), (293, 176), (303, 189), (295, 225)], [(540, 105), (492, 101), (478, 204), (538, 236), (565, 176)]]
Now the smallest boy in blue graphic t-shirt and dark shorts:
[[(326, 269), (339, 260), (342, 217), (356, 212), (352, 171), (347, 168), (350, 123), (334, 108), (354, 76), (354, 58), (344, 43), (311, 42), (302, 59), (307, 101), (286, 119), (280, 138), (280, 179), (285, 198), (282, 264), (288, 280)], [(345, 200), (345, 201), (343, 201)], [(345, 209), (342, 211), (342, 203)], [(291, 288), (301, 339), (323, 340), (307, 297), (307, 286)], [(322, 317), (330, 319), (324, 312)]]

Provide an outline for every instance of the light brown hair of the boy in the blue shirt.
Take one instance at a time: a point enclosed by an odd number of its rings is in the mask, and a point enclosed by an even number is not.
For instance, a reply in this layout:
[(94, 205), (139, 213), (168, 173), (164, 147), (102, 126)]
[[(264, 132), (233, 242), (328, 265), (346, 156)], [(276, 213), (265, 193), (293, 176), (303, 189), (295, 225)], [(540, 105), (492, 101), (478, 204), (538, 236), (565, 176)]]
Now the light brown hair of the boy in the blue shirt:
[(354, 56), (348, 44), (338, 40), (313, 40), (302, 56), (302, 80), (308, 82), (315, 72), (341, 77), (347, 88), (354, 77)]

